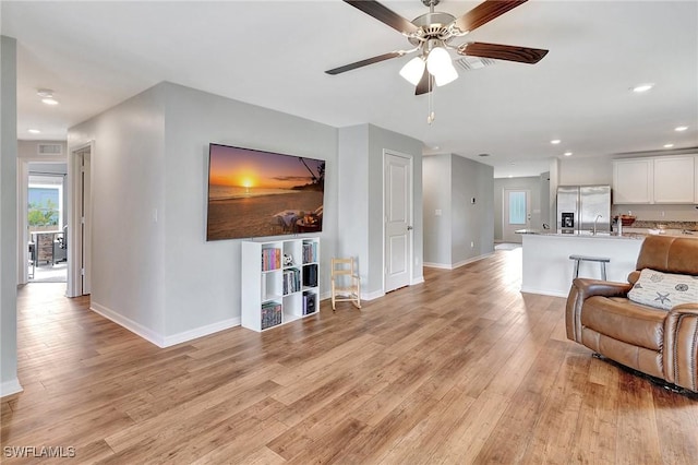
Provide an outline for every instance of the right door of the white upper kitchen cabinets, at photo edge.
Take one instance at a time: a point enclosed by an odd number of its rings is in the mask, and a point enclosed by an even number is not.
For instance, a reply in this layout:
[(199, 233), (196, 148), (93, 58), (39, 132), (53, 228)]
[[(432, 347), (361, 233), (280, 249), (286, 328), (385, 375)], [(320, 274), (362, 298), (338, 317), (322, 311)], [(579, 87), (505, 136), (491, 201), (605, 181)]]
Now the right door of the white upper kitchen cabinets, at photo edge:
[(694, 155), (654, 158), (654, 203), (694, 203), (696, 167)]

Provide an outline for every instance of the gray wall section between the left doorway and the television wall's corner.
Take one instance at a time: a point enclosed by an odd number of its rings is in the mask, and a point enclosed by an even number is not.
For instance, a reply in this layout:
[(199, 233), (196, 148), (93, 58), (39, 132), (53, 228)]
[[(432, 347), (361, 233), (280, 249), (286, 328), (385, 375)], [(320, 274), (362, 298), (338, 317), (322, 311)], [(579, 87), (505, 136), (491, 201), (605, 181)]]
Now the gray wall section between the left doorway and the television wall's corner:
[(165, 98), (155, 86), (68, 134), (69, 153), (96, 141), (92, 307), (151, 339), (165, 334)]

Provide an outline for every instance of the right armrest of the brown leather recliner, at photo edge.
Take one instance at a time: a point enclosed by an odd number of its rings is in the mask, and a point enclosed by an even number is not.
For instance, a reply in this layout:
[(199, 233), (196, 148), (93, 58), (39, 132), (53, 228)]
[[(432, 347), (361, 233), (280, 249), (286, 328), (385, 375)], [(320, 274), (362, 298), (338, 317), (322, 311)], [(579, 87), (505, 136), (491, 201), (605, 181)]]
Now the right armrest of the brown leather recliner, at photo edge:
[(664, 321), (664, 371), (666, 380), (698, 392), (698, 303), (683, 303)]

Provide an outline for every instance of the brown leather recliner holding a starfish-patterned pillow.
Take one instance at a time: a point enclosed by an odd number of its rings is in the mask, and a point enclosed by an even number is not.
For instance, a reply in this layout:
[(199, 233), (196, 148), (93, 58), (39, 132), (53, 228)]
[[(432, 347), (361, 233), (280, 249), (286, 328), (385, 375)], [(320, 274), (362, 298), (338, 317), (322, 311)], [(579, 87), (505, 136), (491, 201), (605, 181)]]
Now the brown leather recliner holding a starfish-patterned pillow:
[(698, 239), (647, 237), (628, 284), (574, 279), (565, 315), (567, 338), (698, 392), (698, 302), (666, 311), (629, 300), (627, 294), (643, 269), (698, 276)]

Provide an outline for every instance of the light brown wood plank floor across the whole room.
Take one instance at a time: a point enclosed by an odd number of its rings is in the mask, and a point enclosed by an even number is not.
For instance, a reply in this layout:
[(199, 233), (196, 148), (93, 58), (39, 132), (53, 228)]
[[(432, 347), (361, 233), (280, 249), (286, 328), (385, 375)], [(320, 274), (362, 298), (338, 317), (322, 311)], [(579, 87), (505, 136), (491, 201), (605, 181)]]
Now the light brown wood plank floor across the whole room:
[(361, 311), (325, 301), (263, 334), (167, 349), (65, 299), (64, 285), (27, 286), (24, 393), (2, 400), (3, 451), (73, 446), (70, 463), (118, 464), (698, 463), (698, 401), (566, 341), (564, 299), (518, 291), (520, 257), (426, 270), (425, 284)]

